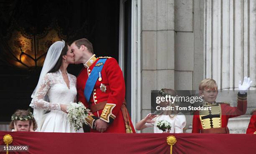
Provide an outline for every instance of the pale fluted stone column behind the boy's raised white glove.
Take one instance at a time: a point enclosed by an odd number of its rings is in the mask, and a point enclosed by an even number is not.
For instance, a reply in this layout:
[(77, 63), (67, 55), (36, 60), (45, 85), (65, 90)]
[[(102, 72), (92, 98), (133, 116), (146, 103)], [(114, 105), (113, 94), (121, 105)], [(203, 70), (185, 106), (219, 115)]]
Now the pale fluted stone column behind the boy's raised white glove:
[(205, 0), (204, 12), (205, 78), (219, 89), (236, 89), (244, 76), (256, 81), (256, 0)]

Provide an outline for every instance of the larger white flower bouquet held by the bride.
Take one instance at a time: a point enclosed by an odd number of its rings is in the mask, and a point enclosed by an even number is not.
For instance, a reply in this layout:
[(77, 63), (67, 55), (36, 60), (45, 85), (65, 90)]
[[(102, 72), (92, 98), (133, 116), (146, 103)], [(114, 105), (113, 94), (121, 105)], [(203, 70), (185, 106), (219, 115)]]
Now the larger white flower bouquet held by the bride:
[(67, 106), (67, 119), (74, 126), (75, 130), (79, 130), (83, 127), (83, 124), (87, 124), (85, 120), (90, 112), (90, 109), (86, 109), (84, 104), (80, 101), (78, 103), (71, 103)]

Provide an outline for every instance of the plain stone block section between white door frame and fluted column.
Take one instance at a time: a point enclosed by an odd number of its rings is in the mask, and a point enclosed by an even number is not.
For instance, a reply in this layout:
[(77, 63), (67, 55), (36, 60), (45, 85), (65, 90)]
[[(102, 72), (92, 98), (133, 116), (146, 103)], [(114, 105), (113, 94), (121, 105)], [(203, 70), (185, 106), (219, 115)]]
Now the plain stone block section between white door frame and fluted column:
[(203, 4), (141, 0), (141, 119), (150, 113), (151, 90), (193, 90), (202, 80)]

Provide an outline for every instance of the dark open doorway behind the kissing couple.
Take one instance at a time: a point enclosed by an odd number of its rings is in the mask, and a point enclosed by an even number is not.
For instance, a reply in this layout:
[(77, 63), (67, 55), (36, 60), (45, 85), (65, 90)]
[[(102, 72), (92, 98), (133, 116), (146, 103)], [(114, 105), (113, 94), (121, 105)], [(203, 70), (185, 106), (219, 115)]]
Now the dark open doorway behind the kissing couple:
[[(40, 67), (18, 68), (8, 61), (12, 53), (5, 41), (14, 24), (35, 35), (55, 26), (67, 43), (88, 38), (96, 56), (111, 56), (119, 61), (120, 0), (1, 0), (0, 10), (0, 78), (4, 81), (0, 87), (0, 123), (8, 123), (15, 110), (28, 109), (41, 72)], [(82, 67), (71, 65), (68, 72), (77, 76)]]

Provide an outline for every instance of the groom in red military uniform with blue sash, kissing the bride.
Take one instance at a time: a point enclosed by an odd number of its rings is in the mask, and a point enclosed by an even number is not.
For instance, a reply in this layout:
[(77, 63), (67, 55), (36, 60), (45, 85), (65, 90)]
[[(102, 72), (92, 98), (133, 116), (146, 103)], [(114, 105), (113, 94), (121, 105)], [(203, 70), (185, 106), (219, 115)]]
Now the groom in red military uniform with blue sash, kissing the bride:
[(83, 63), (77, 76), (78, 100), (91, 110), (86, 119), (91, 132), (135, 133), (125, 107), (123, 73), (114, 58), (93, 54), (92, 43), (86, 38), (70, 46), (74, 63)]

